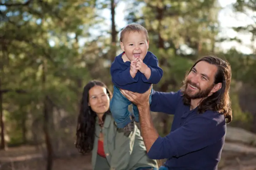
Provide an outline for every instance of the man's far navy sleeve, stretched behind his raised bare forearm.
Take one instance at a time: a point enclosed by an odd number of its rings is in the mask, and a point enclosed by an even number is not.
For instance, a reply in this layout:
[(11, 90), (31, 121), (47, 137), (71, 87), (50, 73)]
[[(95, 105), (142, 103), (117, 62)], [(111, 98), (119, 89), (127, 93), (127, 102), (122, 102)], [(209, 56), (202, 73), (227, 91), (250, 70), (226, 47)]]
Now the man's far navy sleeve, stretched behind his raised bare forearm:
[(181, 100), (181, 92), (152, 92), (152, 102), (150, 110), (153, 112), (163, 112), (167, 114), (174, 114), (178, 101)]

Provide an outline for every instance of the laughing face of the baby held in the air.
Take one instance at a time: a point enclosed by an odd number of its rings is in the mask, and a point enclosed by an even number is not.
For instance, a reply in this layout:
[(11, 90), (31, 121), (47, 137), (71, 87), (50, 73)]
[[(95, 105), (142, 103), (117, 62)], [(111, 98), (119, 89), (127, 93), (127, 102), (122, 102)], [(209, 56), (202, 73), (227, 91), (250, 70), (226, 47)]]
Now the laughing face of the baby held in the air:
[(143, 60), (148, 52), (147, 36), (144, 32), (126, 32), (120, 46), (130, 61), (138, 57)]

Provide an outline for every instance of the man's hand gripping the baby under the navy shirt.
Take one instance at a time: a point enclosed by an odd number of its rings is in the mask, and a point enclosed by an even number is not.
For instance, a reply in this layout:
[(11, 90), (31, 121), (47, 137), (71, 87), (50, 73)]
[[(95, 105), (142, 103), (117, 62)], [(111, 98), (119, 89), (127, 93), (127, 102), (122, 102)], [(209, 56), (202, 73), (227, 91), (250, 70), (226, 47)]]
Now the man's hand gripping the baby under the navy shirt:
[(152, 88), (152, 85), (143, 94), (128, 91), (128, 90), (123, 90), (123, 89), (120, 89), (120, 91), (125, 97), (127, 97), (127, 99), (129, 101), (131, 101), (135, 105), (137, 105), (137, 107), (143, 107), (143, 106), (149, 105), (149, 95), (150, 95), (150, 92), (151, 92), (151, 88)]

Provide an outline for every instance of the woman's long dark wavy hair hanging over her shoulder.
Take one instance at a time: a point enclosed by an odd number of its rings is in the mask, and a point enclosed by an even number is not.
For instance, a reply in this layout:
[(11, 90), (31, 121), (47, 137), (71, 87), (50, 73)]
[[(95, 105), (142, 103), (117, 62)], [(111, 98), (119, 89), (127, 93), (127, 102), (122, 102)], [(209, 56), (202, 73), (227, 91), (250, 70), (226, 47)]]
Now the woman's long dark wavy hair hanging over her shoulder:
[[(97, 114), (88, 105), (89, 103), (89, 90), (94, 86), (105, 87), (109, 98), (112, 98), (112, 93), (108, 90), (107, 86), (98, 80), (92, 80), (87, 85), (84, 86), (83, 96), (80, 102), (80, 112), (77, 121), (77, 140), (75, 142), (75, 147), (82, 154), (89, 153), (93, 149), (94, 137), (95, 137), (95, 124)], [(103, 115), (103, 122), (108, 110)]]

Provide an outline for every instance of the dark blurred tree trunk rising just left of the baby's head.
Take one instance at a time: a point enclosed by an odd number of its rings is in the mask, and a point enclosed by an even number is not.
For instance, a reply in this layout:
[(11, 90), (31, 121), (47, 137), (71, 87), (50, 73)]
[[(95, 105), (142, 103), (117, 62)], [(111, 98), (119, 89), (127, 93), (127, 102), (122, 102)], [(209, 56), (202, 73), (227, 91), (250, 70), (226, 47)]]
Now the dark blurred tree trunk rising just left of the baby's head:
[(110, 59), (113, 62), (115, 59), (115, 55), (117, 53), (117, 30), (115, 28), (115, 6), (116, 3), (114, 2), (114, 0), (111, 0), (111, 49), (110, 49)]

